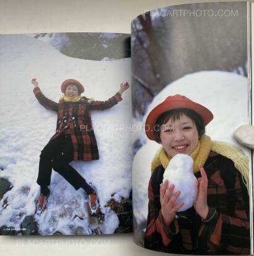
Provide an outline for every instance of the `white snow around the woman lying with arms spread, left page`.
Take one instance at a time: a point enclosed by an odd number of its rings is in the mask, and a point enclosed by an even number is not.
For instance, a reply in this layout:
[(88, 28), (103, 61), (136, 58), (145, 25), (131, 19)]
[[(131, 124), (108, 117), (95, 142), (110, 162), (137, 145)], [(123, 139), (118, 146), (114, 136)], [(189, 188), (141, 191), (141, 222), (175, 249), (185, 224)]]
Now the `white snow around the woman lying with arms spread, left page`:
[[(32, 78), (37, 78), (45, 96), (58, 102), (61, 82), (74, 78), (84, 85), (87, 97), (105, 100), (113, 96), (123, 81), (131, 81), (130, 58), (98, 62), (66, 57), (56, 48), (25, 35), (0, 35), (0, 178), (13, 186), (0, 201), (0, 227), (19, 228), (25, 216), (35, 213), (39, 195), (36, 183), (40, 150), (55, 133), (56, 114), (43, 108), (33, 94)], [(116, 201), (131, 191), (131, 134), (121, 129), (131, 124), (131, 90), (123, 101), (105, 111), (93, 111), (100, 160), (72, 162), (72, 166), (98, 190), (104, 206), (112, 194)], [(116, 125), (116, 126), (113, 126)], [(120, 128), (119, 128), (120, 127)], [(40, 234), (89, 234), (89, 217), (82, 189), (76, 191), (53, 171), (48, 208), (35, 216)], [(2, 207), (7, 201), (7, 208)], [(112, 234), (118, 217), (102, 208), (103, 234)]]

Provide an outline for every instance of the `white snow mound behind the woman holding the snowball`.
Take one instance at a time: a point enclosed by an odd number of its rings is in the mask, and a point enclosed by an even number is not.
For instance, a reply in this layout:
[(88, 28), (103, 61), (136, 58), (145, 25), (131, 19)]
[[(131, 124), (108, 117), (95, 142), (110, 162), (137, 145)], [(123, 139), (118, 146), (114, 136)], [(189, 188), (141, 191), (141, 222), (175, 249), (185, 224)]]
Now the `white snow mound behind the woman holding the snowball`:
[[(169, 95), (182, 94), (204, 106), (214, 114), (206, 127), (212, 140), (230, 142), (243, 147), (234, 139), (235, 129), (248, 124), (248, 80), (244, 76), (224, 71), (199, 71), (174, 81), (153, 99), (142, 121), (157, 104)], [(133, 160), (133, 211), (138, 223), (147, 219), (147, 187), (151, 177), (152, 158), (160, 145), (149, 140), (144, 130), (133, 134), (141, 138), (142, 147)], [(243, 151), (249, 155), (247, 149)]]

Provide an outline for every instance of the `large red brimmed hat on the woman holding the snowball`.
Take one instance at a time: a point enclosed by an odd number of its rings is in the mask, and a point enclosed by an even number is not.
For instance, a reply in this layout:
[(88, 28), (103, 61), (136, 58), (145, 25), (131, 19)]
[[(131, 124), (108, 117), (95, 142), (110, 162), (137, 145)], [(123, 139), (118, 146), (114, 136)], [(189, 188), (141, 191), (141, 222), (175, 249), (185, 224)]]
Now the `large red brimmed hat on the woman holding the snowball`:
[(193, 111), (197, 112), (199, 116), (203, 118), (205, 126), (209, 124), (209, 122), (211, 122), (213, 119), (212, 112), (209, 111), (209, 109), (198, 103), (195, 103), (194, 101), (191, 101), (185, 96), (176, 94), (174, 96), (167, 97), (165, 101), (162, 101), (162, 103), (154, 107), (154, 109), (152, 109), (152, 111), (149, 113), (146, 118), (145, 126), (147, 137), (151, 140), (156, 140), (153, 129), (160, 114), (178, 108), (192, 109)]

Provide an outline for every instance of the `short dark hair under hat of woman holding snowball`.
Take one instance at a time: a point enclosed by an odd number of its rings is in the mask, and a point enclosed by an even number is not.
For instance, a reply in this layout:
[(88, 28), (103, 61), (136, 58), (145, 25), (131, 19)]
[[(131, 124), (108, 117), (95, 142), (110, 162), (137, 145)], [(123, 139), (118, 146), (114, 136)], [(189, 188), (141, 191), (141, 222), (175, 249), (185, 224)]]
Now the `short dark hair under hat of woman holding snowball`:
[[(178, 109), (171, 109), (169, 111), (166, 111), (157, 118), (157, 121), (154, 125), (154, 134), (156, 138), (156, 142), (160, 143), (160, 127), (162, 124), (165, 124), (169, 121), (169, 119), (172, 118), (173, 122), (175, 120), (179, 120), (180, 117), (185, 114), (188, 116), (196, 125), (196, 129), (198, 130), (198, 137), (200, 138), (204, 132), (206, 131), (206, 127), (204, 126), (204, 120), (199, 114), (192, 109), (186, 109), (186, 108), (178, 108)], [(156, 129), (155, 129), (156, 127)]]

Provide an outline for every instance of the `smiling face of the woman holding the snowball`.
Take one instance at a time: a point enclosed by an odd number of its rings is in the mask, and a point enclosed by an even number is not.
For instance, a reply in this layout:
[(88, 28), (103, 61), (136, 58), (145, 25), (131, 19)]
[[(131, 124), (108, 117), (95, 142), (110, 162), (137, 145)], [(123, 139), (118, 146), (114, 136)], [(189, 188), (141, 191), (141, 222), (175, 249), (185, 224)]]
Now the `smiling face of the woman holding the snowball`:
[(170, 157), (178, 153), (190, 155), (198, 145), (198, 129), (190, 117), (182, 114), (179, 120), (169, 119), (160, 126), (160, 140)]

